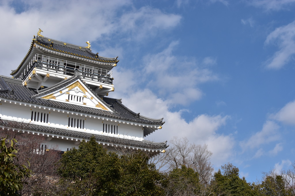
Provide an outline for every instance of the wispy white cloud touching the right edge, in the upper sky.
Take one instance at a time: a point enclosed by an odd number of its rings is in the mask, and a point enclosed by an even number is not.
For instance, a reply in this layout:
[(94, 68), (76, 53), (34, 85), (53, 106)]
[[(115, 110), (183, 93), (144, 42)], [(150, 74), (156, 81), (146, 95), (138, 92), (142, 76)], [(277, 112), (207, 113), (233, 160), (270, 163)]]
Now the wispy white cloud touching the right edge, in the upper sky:
[(276, 28), (267, 36), (265, 44), (276, 44), (279, 47), (266, 61), (266, 68), (280, 69), (285, 66), (295, 54), (295, 21)]

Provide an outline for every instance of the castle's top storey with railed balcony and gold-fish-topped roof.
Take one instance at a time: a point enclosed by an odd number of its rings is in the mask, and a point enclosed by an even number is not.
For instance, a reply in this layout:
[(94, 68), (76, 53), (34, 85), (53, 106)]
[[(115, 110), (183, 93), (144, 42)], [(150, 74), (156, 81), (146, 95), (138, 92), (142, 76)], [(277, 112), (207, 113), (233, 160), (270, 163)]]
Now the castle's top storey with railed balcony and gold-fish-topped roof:
[(117, 66), (118, 57), (101, 57), (87, 46), (78, 46), (37, 36), (27, 55), (17, 69), (12, 70), (13, 78), (21, 79), (23, 85), (41, 90), (51, 87), (74, 75), (79, 76), (99, 97), (114, 91), (112, 68)]

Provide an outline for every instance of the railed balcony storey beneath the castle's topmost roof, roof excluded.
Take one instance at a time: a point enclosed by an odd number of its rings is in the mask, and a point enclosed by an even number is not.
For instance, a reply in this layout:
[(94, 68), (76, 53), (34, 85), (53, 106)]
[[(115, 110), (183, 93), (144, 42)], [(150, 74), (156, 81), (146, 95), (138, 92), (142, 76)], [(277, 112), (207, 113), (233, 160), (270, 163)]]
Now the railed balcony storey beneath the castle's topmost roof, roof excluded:
[(50, 87), (77, 73), (100, 97), (114, 91), (111, 70), (42, 54), (33, 56), (27, 66), (23, 67), (18, 79), (22, 79), (27, 87), (40, 89)]

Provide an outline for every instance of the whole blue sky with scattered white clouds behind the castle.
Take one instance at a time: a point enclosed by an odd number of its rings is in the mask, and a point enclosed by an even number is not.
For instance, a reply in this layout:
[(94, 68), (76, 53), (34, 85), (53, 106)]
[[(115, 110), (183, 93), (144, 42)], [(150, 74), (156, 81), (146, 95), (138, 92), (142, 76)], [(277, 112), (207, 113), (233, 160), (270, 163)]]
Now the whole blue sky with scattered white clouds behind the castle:
[(115, 91), (164, 118), (145, 139), (207, 144), (248, 182), (295, 161), (295, 0), (0, 0), (1, 75), (33, 35), (119, 56)]

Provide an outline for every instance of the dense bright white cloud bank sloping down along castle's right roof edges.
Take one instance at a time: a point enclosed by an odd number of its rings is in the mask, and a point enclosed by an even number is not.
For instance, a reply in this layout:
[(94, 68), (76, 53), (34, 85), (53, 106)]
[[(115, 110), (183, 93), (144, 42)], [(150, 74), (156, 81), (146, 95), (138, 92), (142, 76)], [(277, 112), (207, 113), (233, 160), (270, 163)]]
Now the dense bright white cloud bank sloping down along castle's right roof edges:
[[(165, 68), (162, 67), (161, 69)], [(128, 73), (127, 81), (124, 79), (125, 77), (116, 77), (116, 82), (123, 86), (123, 88), (116, 86), (118, 90), (112, 93), (112, 97), (122, 97), (123, 104), (136, 113), (140, 112), (141, 115), (152, 118), (163, 117), (166, 122), (163, 125), (163, 129), (157, 130), (146, 139), (165, 141), (173, 136), (179, 138), (187, 137), (191, 143), (208, 145), (208, 149), (213, 152), (211, 161), (214, 165), (223, 165), (224, 162), (230, 159), (233, 155), (232, 150), (235, 140), (232, 135), (219, 133), (220, 127), (226, 124), (230, 116), (200, 114), (190, 122), (186, 122), (182, 117), (182, 112), (186, 110), (179, 109), (178, 111), (171, 112), (171, 106), (174, 104), (171, 99), (160, 98), (148, 87), (143, 89), (136, 88), (138, 81), (136, 78), (141, 78), (140, 73), (142, 72), (129, 72), (125, 69), (124, 72), (116, 72), (116, 75), (123, 76), (126, 73)], [(132, 74), (136, 76), (132, 76)]]

